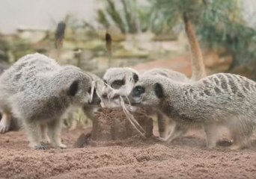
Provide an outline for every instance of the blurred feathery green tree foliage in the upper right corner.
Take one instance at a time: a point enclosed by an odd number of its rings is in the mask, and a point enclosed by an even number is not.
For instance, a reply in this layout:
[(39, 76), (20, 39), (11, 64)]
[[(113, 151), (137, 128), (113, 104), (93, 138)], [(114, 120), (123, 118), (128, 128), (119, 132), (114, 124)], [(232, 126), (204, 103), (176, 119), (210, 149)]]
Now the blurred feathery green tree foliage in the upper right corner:
[(241, 0), (150, 1), (158, 18), (170, 27), (183, 23), (182, 14), (188, 13), (202, 42), (209, 48), (226, 48), (234, 65), (256, 60), (256, 31), (243, 21)]

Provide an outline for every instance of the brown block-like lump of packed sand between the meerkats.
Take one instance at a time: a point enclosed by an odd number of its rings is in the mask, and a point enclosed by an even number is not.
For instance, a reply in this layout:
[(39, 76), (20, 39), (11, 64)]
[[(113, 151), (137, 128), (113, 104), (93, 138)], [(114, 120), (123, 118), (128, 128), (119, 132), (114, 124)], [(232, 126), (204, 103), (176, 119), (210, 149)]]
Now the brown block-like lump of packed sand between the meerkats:
[(91, 133), (79, 136), (74, 146), (125, 145), (153, 136), (153, 120), (146, 115), (145, 110), (136, 110), (132, 115), (144, 129), (144, 136), (132, 126), (122, 108), (101, 108), (94, 119)]

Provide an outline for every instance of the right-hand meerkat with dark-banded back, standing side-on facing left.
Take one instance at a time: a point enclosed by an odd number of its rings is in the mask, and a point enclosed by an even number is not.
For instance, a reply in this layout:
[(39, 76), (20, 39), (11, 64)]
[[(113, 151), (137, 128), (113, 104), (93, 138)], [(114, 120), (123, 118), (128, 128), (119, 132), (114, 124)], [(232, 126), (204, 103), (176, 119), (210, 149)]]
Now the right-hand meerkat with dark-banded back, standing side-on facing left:
[(231, 149), (245, 148), (256, 126), (256, 83), (240, 75), (219, 73), (191, 84), (144, 77), (135, 84), (129, 100), (156, 107), (174, 119), (168, 142), (183, 134), (184, 126), (203, 126), (207, 147), (215, 148), (218, 128), (225, 125), (234, 140)]

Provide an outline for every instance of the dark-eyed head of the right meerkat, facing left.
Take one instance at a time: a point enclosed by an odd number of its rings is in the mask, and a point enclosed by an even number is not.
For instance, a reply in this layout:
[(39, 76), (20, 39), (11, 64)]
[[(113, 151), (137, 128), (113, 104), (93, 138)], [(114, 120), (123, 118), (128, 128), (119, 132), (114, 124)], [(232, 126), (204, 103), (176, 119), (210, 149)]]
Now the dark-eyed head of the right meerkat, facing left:
[(144, 107), (159, 107), (165, 98), (165, 89), (162, 78), (154, 76), (144, 76), (135, 84), (129, 94), (129, 102), (132, 105)]

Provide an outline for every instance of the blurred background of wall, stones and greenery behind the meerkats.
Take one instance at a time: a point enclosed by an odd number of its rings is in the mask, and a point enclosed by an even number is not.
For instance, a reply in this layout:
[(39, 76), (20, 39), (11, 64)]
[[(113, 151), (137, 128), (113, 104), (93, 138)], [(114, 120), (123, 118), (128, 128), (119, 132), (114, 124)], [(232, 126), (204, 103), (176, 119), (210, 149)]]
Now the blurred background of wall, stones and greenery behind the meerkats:
[[(256, 80), (255, 0), (1, 0), (1, 66), (38, 51), (100, 76), (109, 66), (165, 67), (189, 76), (183, 12), (192, 20), (208, 74)], [(67, 27), (56, 49), (60, 21)], [(112, 35), (111, 63), (106, 32)]]

